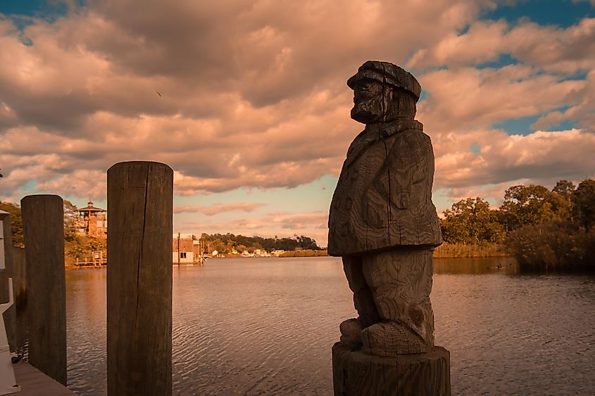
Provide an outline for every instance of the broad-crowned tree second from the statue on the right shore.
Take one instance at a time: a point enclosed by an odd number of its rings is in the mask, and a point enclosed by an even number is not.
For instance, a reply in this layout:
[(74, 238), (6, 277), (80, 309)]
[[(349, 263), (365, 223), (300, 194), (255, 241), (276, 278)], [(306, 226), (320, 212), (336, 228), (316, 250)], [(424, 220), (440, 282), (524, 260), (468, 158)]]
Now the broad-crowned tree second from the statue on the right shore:
[(512, 186), (504, 193), (500, 222), (513, 231), (527, 224), (565, 221), (570, 213), (570, 203), (560, 193), (536, 184)]

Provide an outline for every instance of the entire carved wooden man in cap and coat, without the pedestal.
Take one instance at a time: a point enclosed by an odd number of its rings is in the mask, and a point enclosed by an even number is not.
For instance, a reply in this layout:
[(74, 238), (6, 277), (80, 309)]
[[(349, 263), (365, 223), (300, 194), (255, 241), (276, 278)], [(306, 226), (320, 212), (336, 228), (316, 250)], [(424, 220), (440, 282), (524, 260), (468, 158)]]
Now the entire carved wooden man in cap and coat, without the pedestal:
[(432, 203), (434, 153), (415, 118), (421, 87), (387, 62), (361, 65), (351, 118), (356, 136), (334, 191), (328, 252), (342, 256), (358, 319), (342, 341), (365, 353), (422, 353), (434, 345), (432, 250), (442, 242)]

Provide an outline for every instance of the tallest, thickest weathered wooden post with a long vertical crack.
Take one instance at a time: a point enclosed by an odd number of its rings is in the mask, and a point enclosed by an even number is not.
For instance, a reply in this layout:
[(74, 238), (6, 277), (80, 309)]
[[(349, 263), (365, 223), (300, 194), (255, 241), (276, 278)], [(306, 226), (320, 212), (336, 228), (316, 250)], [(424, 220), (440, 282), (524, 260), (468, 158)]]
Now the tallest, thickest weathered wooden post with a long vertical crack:
[(173, 170), (108, 170), (108, 395), (172, 394)]

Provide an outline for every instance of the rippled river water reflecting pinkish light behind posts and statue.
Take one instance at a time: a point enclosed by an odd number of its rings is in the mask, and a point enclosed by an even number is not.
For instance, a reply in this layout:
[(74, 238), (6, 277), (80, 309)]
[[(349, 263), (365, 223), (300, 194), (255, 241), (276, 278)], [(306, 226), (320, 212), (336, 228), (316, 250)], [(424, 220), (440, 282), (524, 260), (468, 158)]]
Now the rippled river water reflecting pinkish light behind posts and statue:
[[(519, 275), (507, 258), (434, 267), (453, 395), (594, 394), (594, 276)], [(66, 292), (68, 387), (105, 395), (106, 269), (67, 270)], [(331, 346), (355, 316), (334, 257), (175, 266), (173, 393), (331, 395)]]

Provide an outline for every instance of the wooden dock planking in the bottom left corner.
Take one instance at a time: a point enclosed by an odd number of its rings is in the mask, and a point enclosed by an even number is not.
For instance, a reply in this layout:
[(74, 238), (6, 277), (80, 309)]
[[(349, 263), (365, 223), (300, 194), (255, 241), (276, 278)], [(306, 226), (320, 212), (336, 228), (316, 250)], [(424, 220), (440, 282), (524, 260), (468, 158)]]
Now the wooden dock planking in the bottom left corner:
[(20, 385), (18, 396), (73, 396), (77, 393), (31, 366), (27, 362), (13, 364), (15, 378)]

